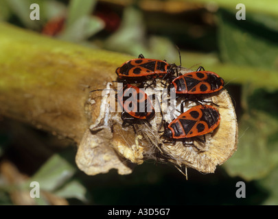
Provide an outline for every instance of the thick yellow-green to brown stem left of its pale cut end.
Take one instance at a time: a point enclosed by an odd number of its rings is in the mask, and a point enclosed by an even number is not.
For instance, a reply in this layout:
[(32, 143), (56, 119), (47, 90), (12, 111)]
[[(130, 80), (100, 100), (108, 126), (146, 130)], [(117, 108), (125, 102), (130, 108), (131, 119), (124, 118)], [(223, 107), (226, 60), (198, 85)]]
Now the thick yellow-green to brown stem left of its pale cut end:
[(115, 79), (117, 66), (130, 57), (5, 23), (0, 33), (0, 113), (79, 144), (98, 115), (84, 109), (89, 91)]

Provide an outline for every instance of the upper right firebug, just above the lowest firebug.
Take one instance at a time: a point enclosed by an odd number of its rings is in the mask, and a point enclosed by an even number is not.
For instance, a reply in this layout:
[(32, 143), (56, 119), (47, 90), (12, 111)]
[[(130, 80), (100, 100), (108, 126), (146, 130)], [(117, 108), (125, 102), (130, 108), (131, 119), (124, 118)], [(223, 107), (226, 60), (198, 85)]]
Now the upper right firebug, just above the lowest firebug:
[(168, 91), (174, 88), (176, 94), (210, 94), (221, 90), (223, 86), (224, 80), (219, 75), (200, 66), (196, 72), (176, 77), (168, 86)]

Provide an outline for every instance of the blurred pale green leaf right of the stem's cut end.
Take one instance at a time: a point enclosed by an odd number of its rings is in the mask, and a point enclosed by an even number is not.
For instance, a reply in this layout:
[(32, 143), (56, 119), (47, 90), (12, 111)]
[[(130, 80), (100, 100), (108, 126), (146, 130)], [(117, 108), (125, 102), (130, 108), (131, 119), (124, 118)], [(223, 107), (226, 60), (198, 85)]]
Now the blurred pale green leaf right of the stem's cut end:
[(262, 179), (278, 165), (278, 120), (266, 112), (252, 110), (240, 120), (238, 151), (224, 167), (231, 176), (247, 181)]

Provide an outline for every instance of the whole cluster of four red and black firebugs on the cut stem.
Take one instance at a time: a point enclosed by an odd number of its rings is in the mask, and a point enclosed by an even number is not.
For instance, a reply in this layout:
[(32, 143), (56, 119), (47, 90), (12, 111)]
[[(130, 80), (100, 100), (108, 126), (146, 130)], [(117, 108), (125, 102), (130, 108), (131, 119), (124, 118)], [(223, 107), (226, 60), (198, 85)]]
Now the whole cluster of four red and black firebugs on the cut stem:
[[(220, 114), (217, 109), (218, 105), (215, 103), (212, 103), (215, 106), (207, 105), (208, 102), (205, 101), (204, 96), (221, 90), (224, 80), (201, 66), (195, 72), (185, 74), (179, 72), (178, 69), (181, 68), (181, 65), (168, 64), (165, 60), (148, 59), (143, 55), (121, 64), (116, 69), (117, 82), (123, 83), (124, 86), (121, 90), (117, 90), (116, 97), (122, 108), (123, 125), (141, 123), (150, 125), (150, 120), (154, 118), (156, 112), (152, 105), (152, 96), (148, 96), (141, 87), (150, 88), (156, 85), (157, 80), (160, 80), (167, 94), (174, 90), (175, 98), (181, 101), (181, 112), (170, 123), (163, 119), (161, 112), (159, 129), (163, 127), (163, 131), (158, 130), (158, 133), (162, 133), (160, 137), (164, 138), (163, 143), (175, 144), (176, 141), (181, 141), (187, 145), (192, 139), (205, 142), (205, 134), (210, 133), (220, 124)], [(134, 85), (138, 83), (139, 86)], [(130, 101), (128, 101), (130, 95), (137, 98), (137, 104), (131, 110)], [(194, 101), (196, 105), (184, 112), (184, 104), (187, 101)], [(140, 107), (141, 110), (139, 110)]]

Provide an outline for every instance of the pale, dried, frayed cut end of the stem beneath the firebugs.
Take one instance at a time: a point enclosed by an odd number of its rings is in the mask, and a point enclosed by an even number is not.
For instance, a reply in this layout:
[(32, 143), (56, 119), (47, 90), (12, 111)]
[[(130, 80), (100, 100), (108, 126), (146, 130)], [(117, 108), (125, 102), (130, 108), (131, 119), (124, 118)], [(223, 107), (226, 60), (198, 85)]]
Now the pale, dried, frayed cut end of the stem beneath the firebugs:
[[(181, 71), (184, 73), (185, 69)], [(150, 80), (146, 84), (150, 85), (152, 82)], [(146, 159), (154, 159), (157, 162), (172, 163), (181, 172), (183, 168), (194, 168), (209, 173), (214, 172), (216, 166), (223, 164), (233, 155), (237, 149), (238, 125), (227, 90), (223, 88), (205, 96), (205, 105), (213, 105), (220, 114), (220, 125), (205, 135), (205, 143), (194, 139), (192, 142), (192, 139), (189, 139), (186, 145), (181, 141), (170, 144), (162, 137), (161, 131), (164, 127), (161, 122), (165, 120), (170, 123), (181, 114), (183, 100), (174, 99), (172, 107), (169, 107), (167, 99), (170, 95), (163, 90), (165, 86), (160, 82), (161, 80), (157, 79), (157, 83), (147, 86), (145, 90), (149, 96), (156, 94), (153, 100), (155, 116), (149, 121), (150, 124), (135, 123), (122, 126), (121, 112), (117, 112), (116, 107), (111, 107), (112, 100), (115, 101), (117, 96), (115, 88), (110, 87), (111, 84), (108, 84), (106, 91), (100, 92), (102, 94), (90, 94), (88, 109), (91, 117), (94, 118), (95, 112), (99, 114), (91, 124), (90, 130), (84, 134), (78, 148), (76, 162), (81, 170), (87, 175), (96, 175), (116, 168), (119, 174), (124, 175), (132, 172), (130, 163), (142, 164)], [(187, 101), (184, 111), (196, 105), (196, 101)]]

